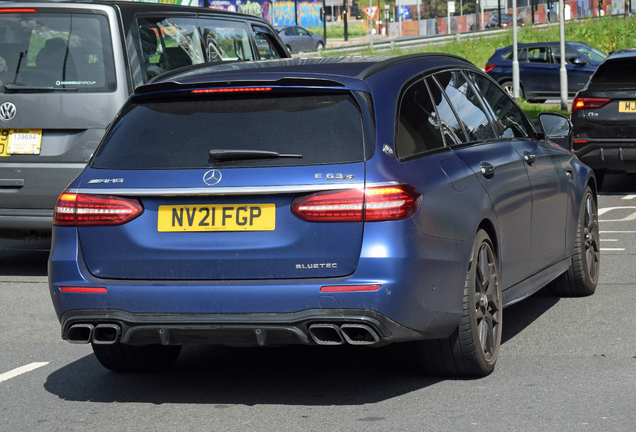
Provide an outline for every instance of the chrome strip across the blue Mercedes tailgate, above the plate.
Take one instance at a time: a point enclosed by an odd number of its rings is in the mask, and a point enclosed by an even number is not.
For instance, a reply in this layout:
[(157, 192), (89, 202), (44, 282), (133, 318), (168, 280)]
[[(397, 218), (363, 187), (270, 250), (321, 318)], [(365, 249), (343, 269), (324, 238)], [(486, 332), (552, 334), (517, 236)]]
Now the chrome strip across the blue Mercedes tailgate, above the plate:
[[(367, 183), (366, 187), (396, 186), (402, 184), (397, 181)], [(197, 188), (73, 188), (70, 193), (92, 195), (120, 195), (120, 196), (207, 196), (207, 195), (273, 195), (282, 193), (308, 193), (328, 190), (361, 189), (363, 182), (354, 183), (321, 183), (315, 185), (291, 186), (230, 186), (230, 187), (197, 187)]]

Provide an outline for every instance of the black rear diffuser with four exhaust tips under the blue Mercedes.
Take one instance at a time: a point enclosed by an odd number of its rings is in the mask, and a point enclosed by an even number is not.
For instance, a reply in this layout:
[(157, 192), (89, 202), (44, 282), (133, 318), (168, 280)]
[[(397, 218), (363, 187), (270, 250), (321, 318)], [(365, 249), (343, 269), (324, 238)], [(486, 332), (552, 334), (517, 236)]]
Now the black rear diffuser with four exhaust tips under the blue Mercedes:
[(72, 343), (382, 346), (431, 337), (377, 312), (355, 309), (176, 316), (98, 309), (62, 316), (62, 338)]

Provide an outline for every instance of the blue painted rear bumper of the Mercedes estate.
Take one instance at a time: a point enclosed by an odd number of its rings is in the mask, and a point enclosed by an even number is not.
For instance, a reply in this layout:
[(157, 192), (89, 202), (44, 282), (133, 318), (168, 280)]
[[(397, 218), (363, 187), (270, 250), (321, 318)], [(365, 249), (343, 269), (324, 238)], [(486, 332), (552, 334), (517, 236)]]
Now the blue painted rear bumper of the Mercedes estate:
[[(369, 225), (365, 238), (378, 238), (374, 231), (394, 226)], [(446, 337), (461, 320), (472, 243), (414, 231), (404, 240), (414, 241), (418, 250), (402, 244), (401, 250), (385, 256), (377, 243), (363, 243), (354, 273), (338, 278), (116, 280), (96, 278), (88, 271), (77, 229), (55, 227), (49, 290), (63, 337), (75, 323), (86, 324), (84, 333), (90, 326), (116, 324), (123, 343), (161, 342), (168, 331), (169, 343), (250, 344), (256, 330), (267, 332), (268, 343), (315, 343), (309, 332), (312, 324), (338, 329), (368, 325), (378, 335), (376, 344)], [(324, 286), (369, 284), (381, 288), (321, 291)], [(64, 286), (104, 287), (107, 292), (63, 292)]]

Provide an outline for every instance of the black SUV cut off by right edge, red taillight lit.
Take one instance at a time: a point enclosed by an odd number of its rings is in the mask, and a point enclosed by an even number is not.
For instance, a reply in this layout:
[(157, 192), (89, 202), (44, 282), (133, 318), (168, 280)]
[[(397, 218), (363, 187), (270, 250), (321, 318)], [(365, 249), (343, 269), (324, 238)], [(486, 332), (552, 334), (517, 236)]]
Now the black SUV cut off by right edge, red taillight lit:
[(614, 51), (572, 102), (574, 153), (596, 172), (636, 170), (636, 48)]

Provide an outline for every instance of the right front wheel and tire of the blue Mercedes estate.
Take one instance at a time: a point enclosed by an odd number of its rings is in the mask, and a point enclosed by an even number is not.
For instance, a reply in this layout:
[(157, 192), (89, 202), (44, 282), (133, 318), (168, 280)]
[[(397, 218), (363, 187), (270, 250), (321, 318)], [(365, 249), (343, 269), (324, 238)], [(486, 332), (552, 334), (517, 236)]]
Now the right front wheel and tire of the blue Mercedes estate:
[(598, 213), (592, 189), (587, 186), (579, 212), (572, 264), (568, 271), (550, 282), (548, 291), (559, 297), (594, 294), (601, 263)]

